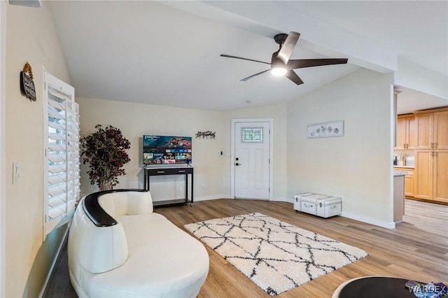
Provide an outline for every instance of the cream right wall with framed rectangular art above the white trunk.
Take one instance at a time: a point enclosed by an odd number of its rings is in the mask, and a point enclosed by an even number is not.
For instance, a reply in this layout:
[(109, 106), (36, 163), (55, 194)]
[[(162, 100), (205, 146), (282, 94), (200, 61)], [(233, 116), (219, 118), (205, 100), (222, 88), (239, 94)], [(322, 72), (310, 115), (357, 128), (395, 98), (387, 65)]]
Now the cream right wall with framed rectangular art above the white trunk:
[[(391, 227), (391, 74), (360, 69), (288, 104), (288, 196), (342, 195), (342, 215)], [(344, 120), (342, 137), (307, 125)]]

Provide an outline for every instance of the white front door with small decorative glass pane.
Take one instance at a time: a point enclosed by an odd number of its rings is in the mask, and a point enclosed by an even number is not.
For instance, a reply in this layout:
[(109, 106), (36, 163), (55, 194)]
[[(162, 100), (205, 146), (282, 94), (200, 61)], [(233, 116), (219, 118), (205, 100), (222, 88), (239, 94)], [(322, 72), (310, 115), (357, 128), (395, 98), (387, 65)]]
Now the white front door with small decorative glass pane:
[(235, 197), (269, 199), (270, 122), (235, 122)]

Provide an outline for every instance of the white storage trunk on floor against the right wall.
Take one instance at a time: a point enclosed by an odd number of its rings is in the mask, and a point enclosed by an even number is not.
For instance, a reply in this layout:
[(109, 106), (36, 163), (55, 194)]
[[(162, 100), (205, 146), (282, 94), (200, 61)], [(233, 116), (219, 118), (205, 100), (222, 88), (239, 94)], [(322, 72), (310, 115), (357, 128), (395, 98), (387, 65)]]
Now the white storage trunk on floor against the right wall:
[[(300, 199), (299, 199), (300, 197)], [(294, 205), (294, 209), (304, 213), (330, 218), (341, 214), (342, 199), (329, 197), (323, 194), (297, 194), (297, 204), (300, 201), (300, 209)], [(296, 199), (294, 199), (296, 204)]]

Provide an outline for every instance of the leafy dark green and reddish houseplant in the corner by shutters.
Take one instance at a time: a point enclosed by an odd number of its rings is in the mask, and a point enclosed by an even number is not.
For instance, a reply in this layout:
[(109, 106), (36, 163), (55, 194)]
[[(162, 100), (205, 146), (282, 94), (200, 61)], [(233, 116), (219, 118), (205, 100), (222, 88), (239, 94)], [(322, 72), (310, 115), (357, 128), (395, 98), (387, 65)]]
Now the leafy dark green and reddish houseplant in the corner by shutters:
[(96, 132), (80, 138), (80, 156), (83, 164), (89, 163), (90, 183), (97, 184), (99, 190), (112, 190), (118, 184), (117, 177), (125, 175), (122, 167), (131, 160), (126, 152), (130, 141), (112, 125), (97, 125), (95, 129)]

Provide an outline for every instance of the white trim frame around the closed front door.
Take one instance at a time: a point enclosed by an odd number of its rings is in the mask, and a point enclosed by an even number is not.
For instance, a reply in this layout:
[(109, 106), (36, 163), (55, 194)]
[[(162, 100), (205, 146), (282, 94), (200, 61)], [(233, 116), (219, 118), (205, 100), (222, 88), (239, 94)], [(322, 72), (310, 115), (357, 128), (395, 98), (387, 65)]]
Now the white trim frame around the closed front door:
[(240, 122), (269, 122), (269, 201), (274, 193), (274, 119), (273, 118), (235, 118), (232, 119), (231, 150), (230, 150), (230, 197), (235, 199), (235, 125)]

